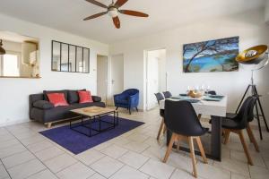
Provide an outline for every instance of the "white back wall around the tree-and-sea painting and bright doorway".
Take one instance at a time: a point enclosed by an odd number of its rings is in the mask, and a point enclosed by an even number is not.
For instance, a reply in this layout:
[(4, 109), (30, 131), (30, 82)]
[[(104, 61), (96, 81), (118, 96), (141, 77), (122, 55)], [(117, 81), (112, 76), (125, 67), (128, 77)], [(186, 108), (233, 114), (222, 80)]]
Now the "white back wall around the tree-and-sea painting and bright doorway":
[[(143, 98), (145, 93), (144, 50), (164, 47), (167, 49), (168, 90), (177, 95), (186, 91), (187, 85), (208, 84), (212, 89), (229, 96), (229, 110), (234, 111), (239, 98), (247, 88), (250, 72), (240, 68), (239, 72), (183, 73), (183, 44), (233, 36), (239, 36), (240, 50), (266, 44), (269, 40), (269, 27), (265, 25), (264, 13), (264, 10), (259, 9), (218, 19), (191, 21), (174, 30), (111, 44), (110, 54), (123, 53), (125, 55), (125, 89), (138, 88), (142, 91), (140, 108), (145, 107)], [(264, 73), (263, 77), (268, 78), (268, 67), (264, 72), (266, 75)], [(265, 95), (264, 101), (265, 99), (268, 101), (269, 88), (268, 86), (262, 88), (261, 93)], [(269, 107), (268, 103), (266, 107)]]

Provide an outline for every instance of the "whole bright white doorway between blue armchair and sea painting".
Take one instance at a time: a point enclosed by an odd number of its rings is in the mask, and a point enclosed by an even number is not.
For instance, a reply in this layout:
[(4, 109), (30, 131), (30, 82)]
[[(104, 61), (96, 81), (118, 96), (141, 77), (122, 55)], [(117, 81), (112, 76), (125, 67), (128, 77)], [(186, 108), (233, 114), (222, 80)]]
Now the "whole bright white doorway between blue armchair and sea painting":
[(167, 89), (166, 49), (146, 51), (146, 109), (158, 106), (154, 93)]

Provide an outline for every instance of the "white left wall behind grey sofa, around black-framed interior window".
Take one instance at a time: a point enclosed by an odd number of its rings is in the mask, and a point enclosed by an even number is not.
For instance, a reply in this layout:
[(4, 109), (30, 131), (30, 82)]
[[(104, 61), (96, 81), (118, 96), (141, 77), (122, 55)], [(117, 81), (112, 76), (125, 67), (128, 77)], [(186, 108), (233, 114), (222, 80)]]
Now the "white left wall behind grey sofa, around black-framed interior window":
[[(0, 14), (0, 30), (39, 38), (41, 79), (0, 78), (0, 125), (29, 120), (28, 98), (43, 90), (82, 89), (96, 94), (96, 55), (108, 55), (108, 45)], [(51, 72), (51, 40), (91, 48), (91, 73)]]

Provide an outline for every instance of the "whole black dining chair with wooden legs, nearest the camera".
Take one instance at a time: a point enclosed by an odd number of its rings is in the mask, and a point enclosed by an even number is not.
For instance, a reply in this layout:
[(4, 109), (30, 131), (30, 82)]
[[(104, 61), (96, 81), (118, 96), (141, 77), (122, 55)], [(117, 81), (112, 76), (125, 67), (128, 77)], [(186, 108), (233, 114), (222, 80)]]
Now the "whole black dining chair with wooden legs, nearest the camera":
[(191, 103), (184, 100), (165, 101), (164, 123), (166, 124), (167, 130), (172, 132), (172, 135), (169, 141), (169, 147), (166, 151), (165, 157), (163, 158), (163, 162), (167, 162), (169, 153), (175, 141), (178, 141), (177, 144), (179, 149), (179, 141), (186, 140), (188, 141), (190, 148), (190, 156), (193, 164), (193, 175), (197, 177), (194, 139), (197, 142), (204, 163), (207, 163), (207, 158), (204, 153), (204, 147), (200, 136), (204, 135), (208, 129), (201, 125)]

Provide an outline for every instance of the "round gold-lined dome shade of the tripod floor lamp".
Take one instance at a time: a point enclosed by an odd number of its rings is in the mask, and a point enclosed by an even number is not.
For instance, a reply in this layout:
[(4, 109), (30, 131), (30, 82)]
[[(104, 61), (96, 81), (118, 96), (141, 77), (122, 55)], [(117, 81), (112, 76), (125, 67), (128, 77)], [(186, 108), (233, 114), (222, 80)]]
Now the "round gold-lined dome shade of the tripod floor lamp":
[(259, 64), (267, 57), (268, 47), (266, 45), (260, 45), (247, 48), (247, 50), (244, 50), (236, 57), (236, 60), (240, 64)]

